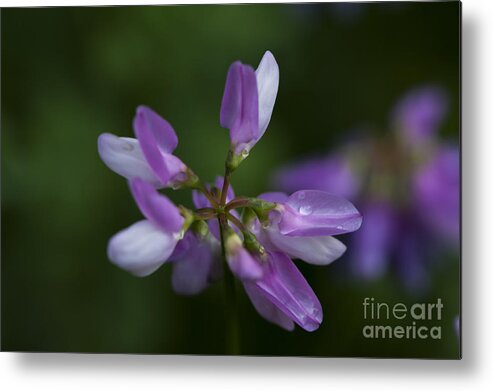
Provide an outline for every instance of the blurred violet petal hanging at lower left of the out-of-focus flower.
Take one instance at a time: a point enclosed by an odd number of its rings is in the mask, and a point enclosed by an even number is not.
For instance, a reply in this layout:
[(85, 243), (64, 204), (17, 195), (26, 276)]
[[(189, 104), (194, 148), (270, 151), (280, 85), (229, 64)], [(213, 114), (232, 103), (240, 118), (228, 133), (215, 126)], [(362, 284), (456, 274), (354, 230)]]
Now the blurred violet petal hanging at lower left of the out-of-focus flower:
[(362, 214), (365, 223), (351, 236), (351, 268), (359, 277), (376, 279), (387, 270), (398, 217), (383, 202), (365, 205)]

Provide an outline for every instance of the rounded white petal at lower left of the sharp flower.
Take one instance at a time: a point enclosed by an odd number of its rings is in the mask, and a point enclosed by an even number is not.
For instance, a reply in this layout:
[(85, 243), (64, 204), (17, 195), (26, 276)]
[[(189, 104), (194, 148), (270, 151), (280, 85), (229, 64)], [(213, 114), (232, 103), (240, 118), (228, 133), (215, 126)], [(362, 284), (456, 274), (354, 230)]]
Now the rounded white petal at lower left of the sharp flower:
[(176, 243), (172, 235), (148, 220), (141, 220), (110, 239), (108, 258), (122, 269), (144, 277), (166, 262)]

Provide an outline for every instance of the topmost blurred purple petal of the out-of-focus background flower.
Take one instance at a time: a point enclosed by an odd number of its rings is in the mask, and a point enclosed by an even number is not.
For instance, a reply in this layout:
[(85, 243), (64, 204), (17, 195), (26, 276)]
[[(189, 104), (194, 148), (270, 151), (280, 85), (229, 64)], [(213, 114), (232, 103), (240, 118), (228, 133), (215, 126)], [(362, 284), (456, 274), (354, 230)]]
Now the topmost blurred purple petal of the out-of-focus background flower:
[(411, 143), (421, 143), (434, 136), (448, 110), (445, 92), (436, 86), (410, 91), (396, 105), (394, 126)]

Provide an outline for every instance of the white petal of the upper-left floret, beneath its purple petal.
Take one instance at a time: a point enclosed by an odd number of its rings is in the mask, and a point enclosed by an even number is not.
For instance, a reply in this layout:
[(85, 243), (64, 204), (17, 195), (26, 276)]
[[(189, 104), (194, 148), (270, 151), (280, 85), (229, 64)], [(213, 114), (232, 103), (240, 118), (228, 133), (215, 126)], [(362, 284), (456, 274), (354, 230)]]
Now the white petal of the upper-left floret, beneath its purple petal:
[(117, 174), (127, 179), (141, 178), (153, 186), (162, 187), (136, 139), (103, 133), (98, 138), (98, 150), (103, 162)]

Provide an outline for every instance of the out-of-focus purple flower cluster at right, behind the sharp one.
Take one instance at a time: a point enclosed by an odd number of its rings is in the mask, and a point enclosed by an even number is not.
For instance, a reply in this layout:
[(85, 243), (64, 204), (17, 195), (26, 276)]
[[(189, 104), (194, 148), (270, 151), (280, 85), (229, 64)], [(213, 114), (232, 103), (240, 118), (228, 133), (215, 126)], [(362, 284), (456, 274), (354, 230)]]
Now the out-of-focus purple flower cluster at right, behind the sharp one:
[(365, 224), (348, 253), (355, 275), (372, 280), (394, 270), (411, 292), (421, 292), (437, 252), (457, 247), (459, 148), (437, 137), (447, 106), (438, 87), (417, 88), (392, 111), (386, 136), (351, 140), (276, 174), (285, 191), (329, 191), (361, 205)]

